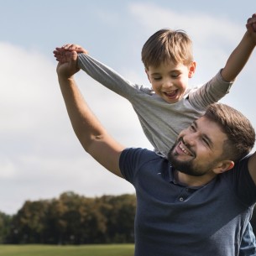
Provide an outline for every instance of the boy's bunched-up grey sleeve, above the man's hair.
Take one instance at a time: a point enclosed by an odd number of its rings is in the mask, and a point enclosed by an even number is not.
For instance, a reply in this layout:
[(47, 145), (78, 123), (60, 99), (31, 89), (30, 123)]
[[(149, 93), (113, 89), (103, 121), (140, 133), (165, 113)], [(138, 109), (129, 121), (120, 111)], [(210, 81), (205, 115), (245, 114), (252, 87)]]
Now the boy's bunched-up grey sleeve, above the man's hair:
[(205, 109), (208, 105), (218, 102), (229, 91), (233, 81), (227, 82), (222, 79), (221, 71), (210, 81), (206, 82), (189, 93), (189, 101), (197, 109)]

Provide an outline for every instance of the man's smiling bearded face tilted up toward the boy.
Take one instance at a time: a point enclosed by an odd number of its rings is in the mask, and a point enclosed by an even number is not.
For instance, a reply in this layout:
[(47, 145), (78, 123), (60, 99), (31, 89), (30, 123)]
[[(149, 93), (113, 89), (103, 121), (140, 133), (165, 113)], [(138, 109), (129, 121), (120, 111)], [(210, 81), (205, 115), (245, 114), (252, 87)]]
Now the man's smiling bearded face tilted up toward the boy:
[(183, 130), (168, 159), (175, 170), (191, 176), (212, 175), (222, 160), (227, 135), (207, 118), (199, 118)]

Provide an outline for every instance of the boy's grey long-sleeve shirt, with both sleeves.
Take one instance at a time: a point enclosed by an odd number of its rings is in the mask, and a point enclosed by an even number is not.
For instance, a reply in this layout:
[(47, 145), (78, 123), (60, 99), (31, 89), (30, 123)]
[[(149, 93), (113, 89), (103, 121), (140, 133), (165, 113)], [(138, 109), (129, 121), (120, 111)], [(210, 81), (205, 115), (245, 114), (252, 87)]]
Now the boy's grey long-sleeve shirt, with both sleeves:
[(127, 81), (89, 55), (78, 55), (78, 67), (103, 86), (131, 102), (155, 152), (165, 157), (175, 144), (180, 131), (199, 118), (209, 104), (224, 97), (232, 86), (232, 82), (223, 81), (221, 73), (218, 72), (203, 86), (188, 88), (180, 102), (171, 104), (165, 102), (149, 87)]

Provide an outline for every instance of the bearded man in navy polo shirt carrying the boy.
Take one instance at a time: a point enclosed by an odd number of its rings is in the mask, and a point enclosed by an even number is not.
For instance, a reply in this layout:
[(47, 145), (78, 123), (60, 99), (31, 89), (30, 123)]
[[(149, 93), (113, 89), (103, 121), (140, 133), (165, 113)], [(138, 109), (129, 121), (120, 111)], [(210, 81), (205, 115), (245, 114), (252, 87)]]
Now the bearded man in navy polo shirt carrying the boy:
[(183, 130), (168, 159), (125, 149), (91, 113), (76, 86), (76, 52), (59, 64), (60, 89), (81, 145), (131, 182), (137, 195), (136, 256), (238, 255), (256, 201), (255, 132), (232, 107), (212, 104)]

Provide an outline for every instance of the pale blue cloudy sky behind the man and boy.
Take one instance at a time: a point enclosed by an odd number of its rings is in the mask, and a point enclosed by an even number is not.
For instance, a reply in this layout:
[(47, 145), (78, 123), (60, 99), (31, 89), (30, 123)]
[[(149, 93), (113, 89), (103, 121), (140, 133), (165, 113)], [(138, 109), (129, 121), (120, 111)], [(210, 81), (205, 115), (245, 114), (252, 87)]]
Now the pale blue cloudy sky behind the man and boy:
[[(133, 193), (82, 149), (56, 76), (55, 47), (80, 44), (130, 81), (150, 86), (140, 52), (159, 29), (183, 29), (193, 41), (196, 74), (212, 78), (246, 31), (255, 0), (0, 0), (0, 212), (65, 191), (82, 196)], [(221, 102), (256, 128), (256, 53)], [(127, 147), (152, 149), (127, 100), (81, 71), (76, 82), (109, 133)], [(254, 103), (253, 103), (254, 102)]]

